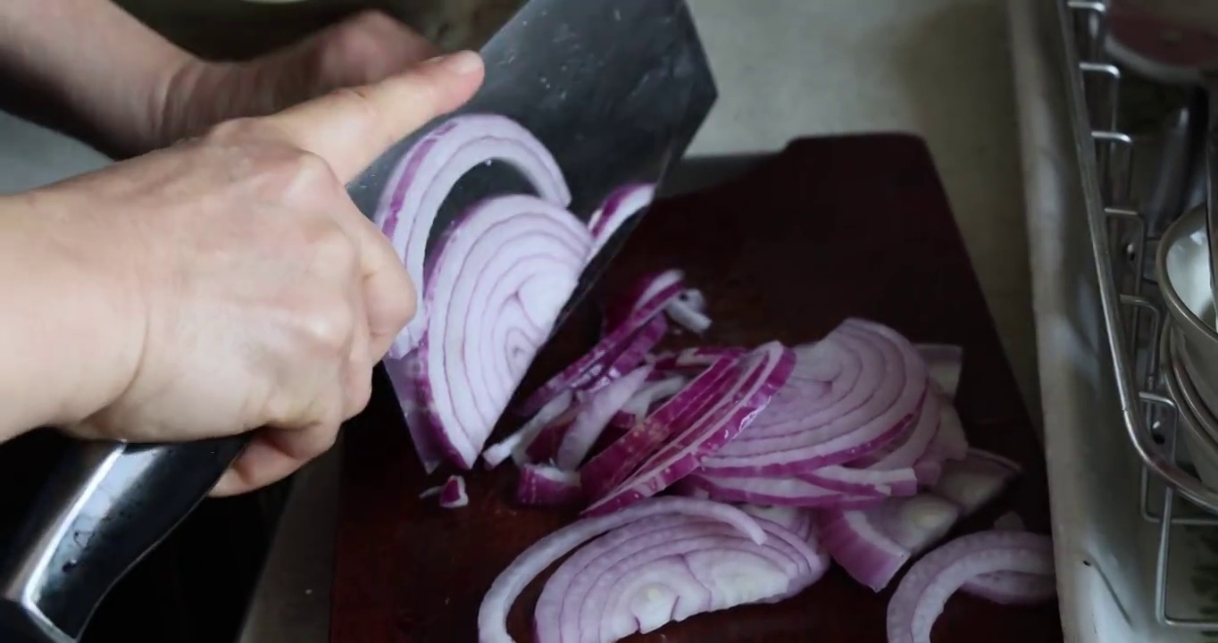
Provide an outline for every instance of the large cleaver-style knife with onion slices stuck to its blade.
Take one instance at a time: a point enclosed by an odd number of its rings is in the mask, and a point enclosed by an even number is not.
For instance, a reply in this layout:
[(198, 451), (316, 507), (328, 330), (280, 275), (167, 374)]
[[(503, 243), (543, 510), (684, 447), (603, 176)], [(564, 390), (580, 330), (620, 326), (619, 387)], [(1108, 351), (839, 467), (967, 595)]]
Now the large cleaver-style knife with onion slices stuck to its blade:
[[(585, 220), (614, 188), (661, 181), (716, 99), (682, 0), (529, 0), (481, 54), (486, 82), (457, 113), (498, 113), (532, 132), (561, 167), (570, 209)], [(430, 127), (348, 185), (365, 216)], [(471, 172), (442, 205), (429, 247), (469, 205), (519, 190), (508, 168)], [(588, 264), (555, 328), (639, 218)], [(0, 561), (0, 624), (34, 642), (78, 642), (110, 588), (206, 497), (248, 440), (73, 443)]]

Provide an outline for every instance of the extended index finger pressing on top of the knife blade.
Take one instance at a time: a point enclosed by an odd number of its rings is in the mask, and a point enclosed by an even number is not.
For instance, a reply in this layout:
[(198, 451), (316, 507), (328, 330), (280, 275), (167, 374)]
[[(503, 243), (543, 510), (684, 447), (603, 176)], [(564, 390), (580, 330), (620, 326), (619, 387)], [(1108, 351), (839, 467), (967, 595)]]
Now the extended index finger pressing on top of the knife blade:
[(263, 121), (287, 142), (324, 158), (347, 183), (391, 145), (463, 105), (481, 83), (482, 58), (460, 51), (379, 83), (336, 90)]

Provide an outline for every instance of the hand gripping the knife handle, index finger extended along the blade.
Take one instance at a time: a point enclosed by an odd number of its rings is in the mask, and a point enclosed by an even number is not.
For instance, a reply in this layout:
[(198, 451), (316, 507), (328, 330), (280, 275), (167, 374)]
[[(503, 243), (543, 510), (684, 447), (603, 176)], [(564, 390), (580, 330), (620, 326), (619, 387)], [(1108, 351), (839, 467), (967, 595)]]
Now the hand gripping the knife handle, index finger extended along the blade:
[(104, 403), (65, 429), (171, 442), (266, 426), (214, 494), (329, 449), (414, 313), (406, 269), (345, 184), (481, 78), (473, 54), (428, 61), (32, 195), (121, 311), (97, 320), (117, 326), (121, 358), (85, 381)]

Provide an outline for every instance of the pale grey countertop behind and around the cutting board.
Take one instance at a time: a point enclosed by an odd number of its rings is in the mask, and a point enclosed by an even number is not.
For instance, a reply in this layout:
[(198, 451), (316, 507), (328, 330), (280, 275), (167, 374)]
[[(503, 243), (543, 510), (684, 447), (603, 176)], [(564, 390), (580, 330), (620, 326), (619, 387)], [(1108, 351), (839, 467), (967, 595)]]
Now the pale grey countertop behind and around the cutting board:
[[(1024, 398), (1039, 418), (1018, 132), (1001, 0), (691, 0), (720, 100), (689, 155), (803, 135), (922, 135)], [(105, 163), (0, 114), (0, 191)], [(16, 145), (13, 142), (16, 141)], [(334, 453), (295, 482), (242, 643), (328, 641)]]

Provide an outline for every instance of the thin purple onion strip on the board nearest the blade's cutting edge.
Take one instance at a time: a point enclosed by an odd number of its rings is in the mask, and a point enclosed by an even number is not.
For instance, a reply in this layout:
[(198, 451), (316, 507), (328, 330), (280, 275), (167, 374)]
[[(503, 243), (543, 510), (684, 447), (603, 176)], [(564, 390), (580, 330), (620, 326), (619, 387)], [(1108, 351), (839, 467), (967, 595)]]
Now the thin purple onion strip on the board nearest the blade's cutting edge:
[[(632, 300), (635, 304), (630, 308), (620, 324), (616, 324), (587, 354), (574, 364), (554, 375), (537, 391), (530, 395), (521, 404), (521, 414), (536, 413), (546, 402), (558, 393), (569, 388), (582, 388), (596, 381), (600, 374), (614, 363), (647, 324), (664, 307), (681, 293), (681, 280), (683, 274), (680, 270), (667, 270), (644, 280), (646, 285), (638, 286), (638, 298)], [(644, 351), (646, 352), (646, 351)], [(642, 360), (642, 356), (639, 356)]]

